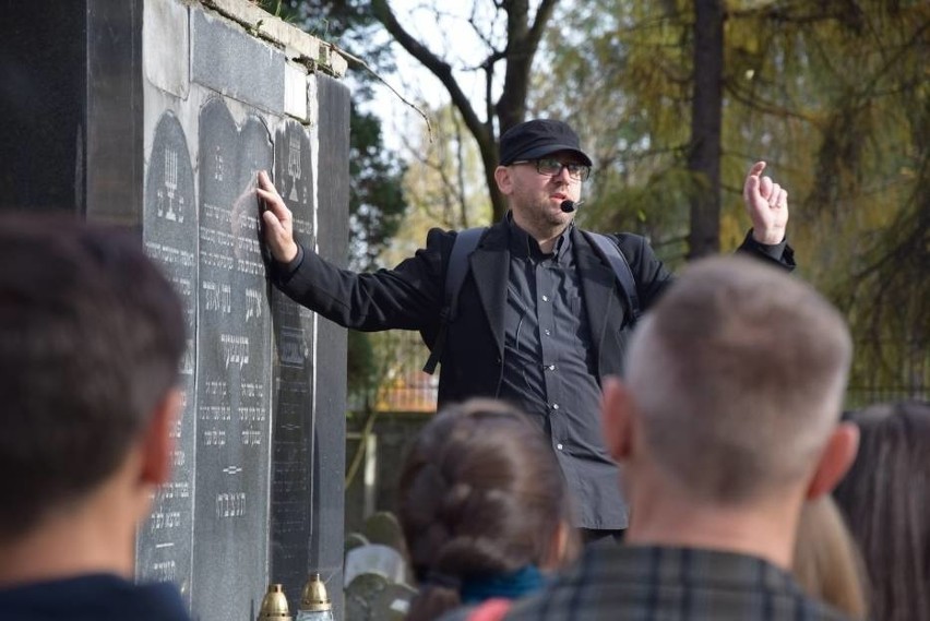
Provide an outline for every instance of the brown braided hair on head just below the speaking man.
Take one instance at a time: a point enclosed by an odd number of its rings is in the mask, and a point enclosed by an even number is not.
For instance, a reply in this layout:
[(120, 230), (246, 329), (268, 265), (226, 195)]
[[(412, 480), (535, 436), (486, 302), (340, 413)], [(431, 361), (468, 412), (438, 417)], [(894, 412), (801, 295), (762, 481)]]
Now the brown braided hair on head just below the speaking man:
[(420, 593), (407, 617), (461, 604), (463, 583), (552, 568), (565, 557), (570, 500), (541, 430), (500, 402), (440, 411), (419, 433), (400, 481), (400, 520)]

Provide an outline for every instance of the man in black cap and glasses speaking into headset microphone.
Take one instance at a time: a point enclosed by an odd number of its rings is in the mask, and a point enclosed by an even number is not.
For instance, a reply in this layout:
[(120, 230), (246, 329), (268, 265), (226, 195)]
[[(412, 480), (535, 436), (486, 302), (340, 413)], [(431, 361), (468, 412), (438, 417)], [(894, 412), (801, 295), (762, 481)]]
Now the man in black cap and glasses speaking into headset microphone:
[[(592, 160), (565, 123), (535, 119), (500, 140), (498, 188), (510, 212), (480, 238), (445, 324), (440, 405), (498, 397), (544, 429), (575, 497), (576, 525), (588, 539), (627, 527), (617, 466), (604, 446), (601, 379), (621, 374), (632, 330), (617, 272), (592, 238), (573, 225)], [(794, 267), (785, 243), (787, 193), (750, 170), (743, 192), (753, 229), (740, 247)], [(294, 239), (291, 213), (264, 172), (259, 196), (272, 278), (288, 296), (346, 327), (417, 330), (434, 344), (455, 231), (432, 229), (426, 248), (373, 274), (338, 270)], [(643, 237), (609, 236), (630, 265), (642, 308), (670, 283)]]

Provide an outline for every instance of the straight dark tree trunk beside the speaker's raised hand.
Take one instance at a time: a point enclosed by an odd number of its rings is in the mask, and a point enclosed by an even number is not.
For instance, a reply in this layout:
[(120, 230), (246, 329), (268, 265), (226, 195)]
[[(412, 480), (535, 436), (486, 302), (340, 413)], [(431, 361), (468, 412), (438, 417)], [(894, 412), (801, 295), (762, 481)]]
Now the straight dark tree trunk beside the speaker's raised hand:
[(720, 251), (720, 119), (724, 84), (723, 0), (694, 0), (694, 95), (688, 169), (691, 195), (688, 259)]

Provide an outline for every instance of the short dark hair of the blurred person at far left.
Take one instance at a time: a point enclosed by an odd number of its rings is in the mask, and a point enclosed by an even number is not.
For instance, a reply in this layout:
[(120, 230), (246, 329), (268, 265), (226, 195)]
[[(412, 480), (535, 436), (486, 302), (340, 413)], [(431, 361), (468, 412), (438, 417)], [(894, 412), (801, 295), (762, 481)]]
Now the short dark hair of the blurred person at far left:
[(0, 215), (0, 538), (119, 467), (186, 342), (181, 301), (138, 235)]

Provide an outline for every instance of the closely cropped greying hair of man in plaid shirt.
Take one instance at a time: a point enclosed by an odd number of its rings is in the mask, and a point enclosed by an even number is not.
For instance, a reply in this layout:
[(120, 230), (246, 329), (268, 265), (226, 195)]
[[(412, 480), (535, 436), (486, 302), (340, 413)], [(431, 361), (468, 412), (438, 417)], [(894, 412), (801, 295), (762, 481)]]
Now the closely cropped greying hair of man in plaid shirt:
[(693, 263), (628, 353), (649, 458), (698, 501), (797, 489), (836, 430), (851, 349), (843, 318), (801, 280), (741, 256)]

